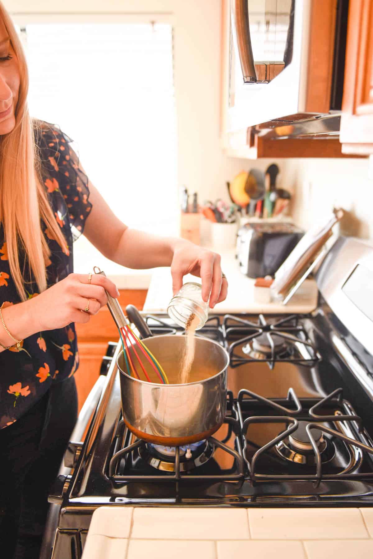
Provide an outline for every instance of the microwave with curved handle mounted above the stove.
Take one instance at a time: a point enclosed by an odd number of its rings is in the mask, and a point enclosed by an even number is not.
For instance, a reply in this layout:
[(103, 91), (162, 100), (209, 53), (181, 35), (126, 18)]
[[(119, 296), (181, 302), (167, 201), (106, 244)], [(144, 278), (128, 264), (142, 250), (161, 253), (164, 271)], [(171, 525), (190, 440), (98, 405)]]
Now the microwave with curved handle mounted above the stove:
[(229, 129), (328, 113), (338, 0), (226, 0)]

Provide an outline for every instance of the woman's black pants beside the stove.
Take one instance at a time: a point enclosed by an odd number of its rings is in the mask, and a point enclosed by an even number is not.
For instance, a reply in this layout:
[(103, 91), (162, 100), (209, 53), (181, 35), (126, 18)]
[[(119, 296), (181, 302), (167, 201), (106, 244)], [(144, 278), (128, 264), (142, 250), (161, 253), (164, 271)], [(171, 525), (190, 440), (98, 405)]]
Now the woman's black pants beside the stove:
[(0, 431), (0, 557), (38, 559), (54, 481), (77, 419), (74, 377)]

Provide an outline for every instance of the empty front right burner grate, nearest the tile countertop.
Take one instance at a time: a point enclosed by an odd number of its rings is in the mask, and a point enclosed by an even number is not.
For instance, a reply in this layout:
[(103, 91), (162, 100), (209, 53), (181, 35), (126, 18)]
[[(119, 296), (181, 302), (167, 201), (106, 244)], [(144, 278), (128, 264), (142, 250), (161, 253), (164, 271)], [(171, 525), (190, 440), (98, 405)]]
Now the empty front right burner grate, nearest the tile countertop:
[[(373, 455), (373, 442), (363, 429), (362, 420), (355, 414), (350, 402), (343, 399), (341, 388), (334, 390), (322, 400), (314, 398), (299, 400), (292, 389), (289, 390), (285, 400), (269, 400), (249, 390), (240, 390), (237, 398), (237, 409), (242, 429), (243, 456), (253, 485), (263, 481), (308, 480), (313, 481), (314, 486), (318, 487), (320, 482), (326, 480), (373, 480), (373, 463), (369, 456)], [(264, 412), (265, 415), (254, 415), (259, 410)], [(323, 411), (323, 413), (319, 414), (320, 411)], [(328, 411), (333, 413), (328, 414)], [(272, 415), (273, 413), (276, 415)], [(333, 423), (338, 430), (327, 427), (325, 422)], [(271, 423), (286, 424), (287, 428), (267, 444), (263, 446), (254, 445), (254, 451), (251, 451), (247, 437), (249, 425)], [(302, 441), (296, 438), (296, 434), (292, 437), (292, 434), (298, 428), (300, 428)], [(322, 470), (325, 465), (322, 459), (323, 451), (320, 451), (319, 444), (323, 435), (329, 435), (327, 439), (329, 445), (342, 441), (346, 450), (350, 452), (350, 462), (342, 468), (342, 471), (323, 473)], [(258, 473), (258, 462), (261, 458), (266, 457), (268, 466), (269, 453), (275, 449), (278, 450), (281, 443), (284, 444), (284, 441), (290, 440), (291, 444), (291, 440), (294, 442), (294, 439), (297, 445), (303, 443), (304, 448), (309, 447), (310, 451), (313, 451), (315, 473), (303, 474), (300, 470), (297, 471), (296, 475)], [(253, 455), (248, 458), (252, 452), (254, 452)], [(306, 450), (306, 452), (309, 452), (309, 450)], [(357, 472), (364, 459), (365, 471)], [(272, 467), (273, 463), (275, 462), (272, 462)], [(301, 465), (297, 467), (302, 468)], [(328, 464), (326, 467), (328, 467)], [(287, 471), (289, 471), (289, 468), (287, 468)], [(291, 468), (290, 471), (292, 471)]]

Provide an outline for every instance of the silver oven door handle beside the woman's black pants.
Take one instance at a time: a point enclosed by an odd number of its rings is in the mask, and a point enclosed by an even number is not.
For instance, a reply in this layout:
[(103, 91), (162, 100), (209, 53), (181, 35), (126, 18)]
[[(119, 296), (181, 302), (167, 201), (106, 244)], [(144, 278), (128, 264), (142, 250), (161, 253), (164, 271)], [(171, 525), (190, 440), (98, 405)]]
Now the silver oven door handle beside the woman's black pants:
[(91, 392), (89, 392), (86, 401), (78, 415), (77, 423), (75, 423), (74, 430), (70, 437), (67, 449), (64, 456), (64, 464), (67, 468), (73, 468), (81, 452), (83, 442), (82, 438), (89, 419), (97, 408), (98, 401), (100, 400), (102, 388), (106, 381), (105, 375), (100, 375), (93, 385)]

